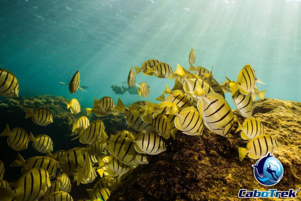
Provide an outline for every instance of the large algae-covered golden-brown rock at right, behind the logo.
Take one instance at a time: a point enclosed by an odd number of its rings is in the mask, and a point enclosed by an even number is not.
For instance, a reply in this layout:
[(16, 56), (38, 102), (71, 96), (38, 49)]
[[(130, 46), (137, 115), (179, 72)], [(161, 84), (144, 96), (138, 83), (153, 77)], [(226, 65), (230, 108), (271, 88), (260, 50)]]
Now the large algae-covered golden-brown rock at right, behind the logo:
[[(238, 200), (238, 191), (288, 190), (301, 187), (301, 103), (276, 99), (255, 101), (253, 117), (266, 134), (281, 143), (275, 157), (283, 165), (282, 180), (272, 187), (258, 183), (248, 157), (239, 160), (238, 147), (247, 141), (235, 133), (244, 118), (233, 110), (234, 128), (229, 138), (205, 129), (199, 139), (178, 132), (167, 151), (150, 156), (147, 165), (137, 167), (112, 193), (109, 200)], [(301, 194), (297, 193), (300, 199)]]

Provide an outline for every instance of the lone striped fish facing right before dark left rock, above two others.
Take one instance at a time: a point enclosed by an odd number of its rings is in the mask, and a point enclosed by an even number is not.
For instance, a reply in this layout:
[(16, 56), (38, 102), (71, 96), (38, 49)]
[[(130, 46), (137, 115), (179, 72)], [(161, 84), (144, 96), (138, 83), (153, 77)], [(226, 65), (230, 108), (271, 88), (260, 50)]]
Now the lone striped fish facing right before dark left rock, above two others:
[(50, 110), (45, 107), (40, 107), (34, 112), (27, 108), (25, 118), (29, 117), (32, 117), (32, 121), (40, 126), (47, 126), (50, 123), (53, 123), (53, 116)]

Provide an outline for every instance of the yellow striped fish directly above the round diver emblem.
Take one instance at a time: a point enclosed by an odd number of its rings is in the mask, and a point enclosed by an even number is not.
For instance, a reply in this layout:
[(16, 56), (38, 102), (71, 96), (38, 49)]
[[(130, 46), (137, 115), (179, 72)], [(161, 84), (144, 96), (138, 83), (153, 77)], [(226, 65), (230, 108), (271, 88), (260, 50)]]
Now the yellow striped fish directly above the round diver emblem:
[(259, 135), (251, 139), (246, 148), (238, 148), (239, 160), (242, 161), (246, 155), (252, 159), (259, 159), (267, 155), (267, 152), (273, 154), (280, 145), (271, 135)]

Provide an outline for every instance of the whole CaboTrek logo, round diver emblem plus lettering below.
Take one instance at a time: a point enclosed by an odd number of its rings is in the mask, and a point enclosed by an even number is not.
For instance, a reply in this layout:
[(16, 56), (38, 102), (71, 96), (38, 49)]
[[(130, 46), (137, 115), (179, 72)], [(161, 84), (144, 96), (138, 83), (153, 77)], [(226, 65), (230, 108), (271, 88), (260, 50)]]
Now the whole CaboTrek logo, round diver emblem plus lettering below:
[[(283, 166), (281, 162), (271, 155), (270, 152), (266, 156), (261, 157), (254, 167), (254, 176), (256, 180), (265, 186), (272, 186), (280, 182), (283, 176)], [(277, 189), (269, 189), (268, 191), (247, 191), (247, 189), (240, 189), (238, 193), (239, 198), (296, 198), (296, 193), (299, 192), (293, 189), (289, 191), (277, 191)]]

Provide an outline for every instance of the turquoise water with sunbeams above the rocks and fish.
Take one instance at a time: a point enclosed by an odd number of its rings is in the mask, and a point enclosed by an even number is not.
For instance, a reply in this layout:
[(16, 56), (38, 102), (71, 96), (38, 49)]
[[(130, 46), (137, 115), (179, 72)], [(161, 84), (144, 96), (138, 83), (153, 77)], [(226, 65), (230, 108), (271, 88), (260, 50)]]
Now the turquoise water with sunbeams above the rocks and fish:
[[(0, 3), (0, 68), (16, 75), (20, 96), (59, 95), (91, 107), (93, 97), (120, 97), (110, 86), (127, 81), (131, 66), (158, 59), (176, 69), (210, 70), (221, 84), (250, 63), (268, 98), (301, 101), (301, 2), (279, 1), (32, 1)], [(80, 70), (87, 93), (59, 84)], [(151, 100), (174, 81), (136, 76)], [(127, 85), (127, 84), (125, 84)], [(226, 98), (232, 104), (230, 95)], [(233, 104), (232, 104), (233, 106)]]

